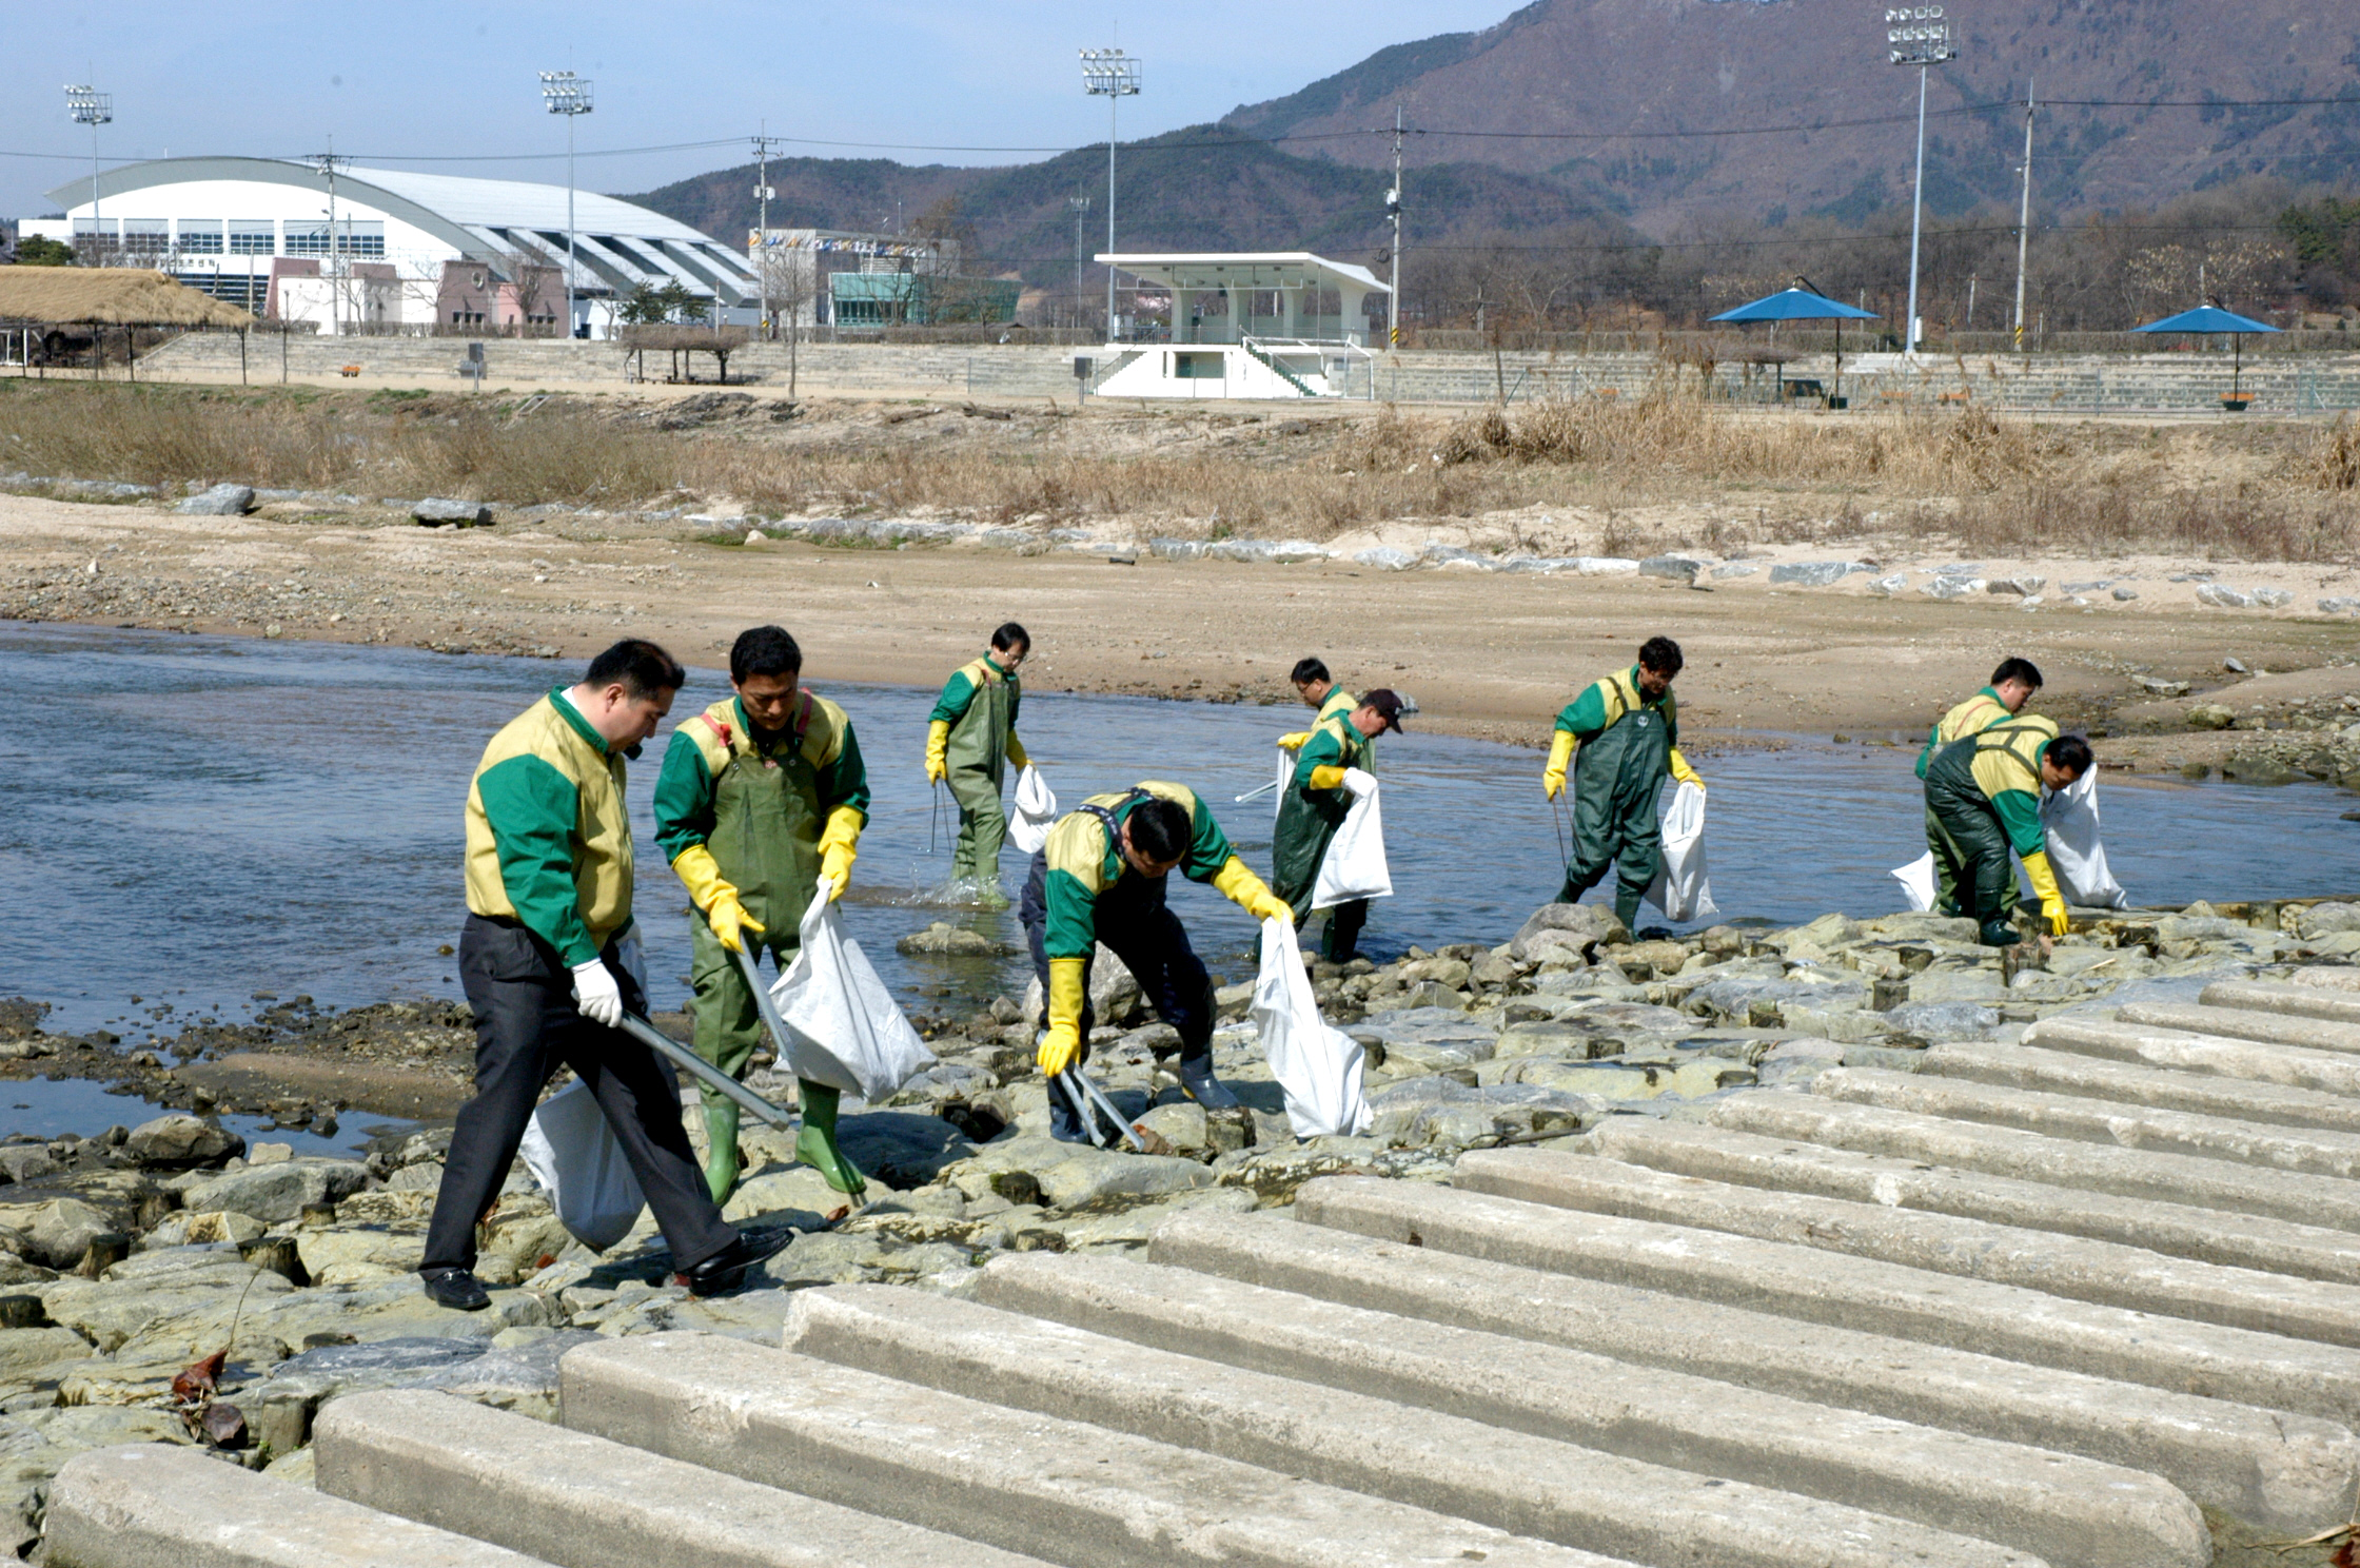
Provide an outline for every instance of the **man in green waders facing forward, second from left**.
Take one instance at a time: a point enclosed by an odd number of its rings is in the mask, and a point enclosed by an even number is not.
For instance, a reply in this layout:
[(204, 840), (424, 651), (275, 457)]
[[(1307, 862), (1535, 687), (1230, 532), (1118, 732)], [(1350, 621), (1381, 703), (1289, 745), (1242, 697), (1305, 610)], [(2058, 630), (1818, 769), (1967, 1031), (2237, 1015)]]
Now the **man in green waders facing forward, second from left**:
[[(868, 822), (868, 770), (852, 720), (800, 690), (802, 649), (779, 626), (755, 626), (729, 649), (736, 697), (673, 730), (656, 777), (656, 843), (703, 921), (689, 923), (696, 1053), (734, 1079), (762, 1041), (762, 1013), (734, 954), (762, 952), (784, 971), (802, 916), (828, 883), (843, 897)], [(722, 1202), (736, 1185), (739, 1105), (699, 1084), (706, 1103), (706, 1181)], [(800, 1082), (795, 1157), (838, 1193), (866, 1181), (835, 1148), (840, 1093)]]

